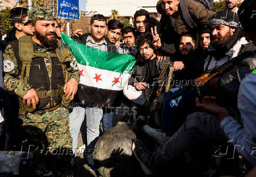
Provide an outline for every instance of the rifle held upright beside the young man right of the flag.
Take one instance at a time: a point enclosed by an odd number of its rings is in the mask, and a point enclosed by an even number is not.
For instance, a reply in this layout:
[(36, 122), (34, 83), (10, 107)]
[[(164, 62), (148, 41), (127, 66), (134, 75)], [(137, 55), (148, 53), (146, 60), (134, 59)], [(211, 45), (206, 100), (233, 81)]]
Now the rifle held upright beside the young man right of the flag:
[[(166, 92), (169, 91), (171, 85), (171, 77), (173, 75), (173, 63), (169, 62), (164, 65), (163, 70), (161, 71), (159, 77), (157, 78), (156, 83), (153, 85), (152, 91), (149, 96), (149, 102), (146, 106), (146, 113), (145, 116), (149, 118), (150, 114), (150, 107), (154, 104), (154, 100), (159, 98), (159, 95), (164, 87), (166, 85)], [(167, 83), (166, 83), (167, 79)]]

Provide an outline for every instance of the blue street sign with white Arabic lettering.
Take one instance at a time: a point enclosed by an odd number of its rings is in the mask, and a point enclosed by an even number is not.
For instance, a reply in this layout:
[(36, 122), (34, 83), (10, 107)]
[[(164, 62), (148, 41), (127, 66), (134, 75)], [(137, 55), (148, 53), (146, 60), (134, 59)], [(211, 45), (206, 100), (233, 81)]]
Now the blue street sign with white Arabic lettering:
[(79, 0), (58, 0), (58, 17), (79, 20)]

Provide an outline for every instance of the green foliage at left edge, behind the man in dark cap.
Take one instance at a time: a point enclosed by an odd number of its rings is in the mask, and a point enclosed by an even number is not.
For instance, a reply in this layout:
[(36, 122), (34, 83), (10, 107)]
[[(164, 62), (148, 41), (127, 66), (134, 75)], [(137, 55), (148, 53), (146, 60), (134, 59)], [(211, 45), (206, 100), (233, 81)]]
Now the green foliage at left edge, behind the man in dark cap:
[(12, 29), (11, 22), (9, 21), (10, 11), (10, 8), (2, 9), (0, 11), (1, 35), (8, 33), (8, 31)]

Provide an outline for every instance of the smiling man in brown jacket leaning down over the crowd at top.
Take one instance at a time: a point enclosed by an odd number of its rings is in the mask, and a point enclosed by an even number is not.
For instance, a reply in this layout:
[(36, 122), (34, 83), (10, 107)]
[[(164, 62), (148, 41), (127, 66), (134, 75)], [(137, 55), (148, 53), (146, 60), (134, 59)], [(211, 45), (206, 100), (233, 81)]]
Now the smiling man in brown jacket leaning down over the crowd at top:
[(198, 27), (208, 25), (208, 20), (214, 15), (194, 0), (159, 0), (156, 8), (161, 14), (161, 43), (156, 47), (166, 54), (175, 53), (177, 46), (174, 44), (178, 43), (181, 35), (189, 32), (196, 38)]

